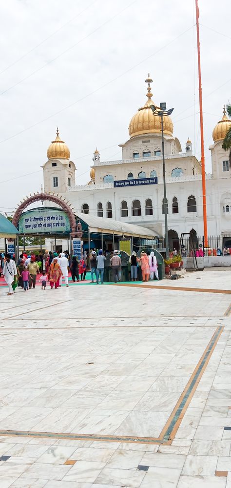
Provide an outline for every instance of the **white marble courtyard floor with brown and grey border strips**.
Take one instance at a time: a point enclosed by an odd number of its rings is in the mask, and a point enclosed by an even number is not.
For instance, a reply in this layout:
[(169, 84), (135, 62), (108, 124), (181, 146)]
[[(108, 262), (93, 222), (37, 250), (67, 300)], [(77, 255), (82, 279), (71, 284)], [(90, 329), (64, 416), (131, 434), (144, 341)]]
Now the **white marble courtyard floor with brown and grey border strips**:
[(156, 286), (0, 289), (0, 488), (231, 488), (231, 271)]

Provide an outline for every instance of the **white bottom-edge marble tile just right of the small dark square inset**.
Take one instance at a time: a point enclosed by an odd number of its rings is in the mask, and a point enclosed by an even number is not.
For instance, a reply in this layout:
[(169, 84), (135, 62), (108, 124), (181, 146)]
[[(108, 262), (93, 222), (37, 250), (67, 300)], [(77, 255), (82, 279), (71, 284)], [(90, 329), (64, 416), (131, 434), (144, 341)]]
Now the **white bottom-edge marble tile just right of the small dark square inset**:
[(176, 488), (181, 470), (170, 468), (149, 468), (140, 488)]

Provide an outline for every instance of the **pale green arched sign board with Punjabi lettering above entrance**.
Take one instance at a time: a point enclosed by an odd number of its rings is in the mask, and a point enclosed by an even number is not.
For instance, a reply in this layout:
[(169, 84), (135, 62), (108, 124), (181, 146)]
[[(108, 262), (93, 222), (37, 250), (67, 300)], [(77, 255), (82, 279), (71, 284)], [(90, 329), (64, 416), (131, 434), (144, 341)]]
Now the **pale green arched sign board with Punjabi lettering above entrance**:
[(35, 208), (19, 218), (20, 234), (68, 234), (71, 232), (66, 212), (58, 208)]

